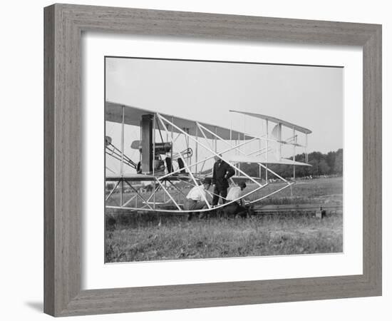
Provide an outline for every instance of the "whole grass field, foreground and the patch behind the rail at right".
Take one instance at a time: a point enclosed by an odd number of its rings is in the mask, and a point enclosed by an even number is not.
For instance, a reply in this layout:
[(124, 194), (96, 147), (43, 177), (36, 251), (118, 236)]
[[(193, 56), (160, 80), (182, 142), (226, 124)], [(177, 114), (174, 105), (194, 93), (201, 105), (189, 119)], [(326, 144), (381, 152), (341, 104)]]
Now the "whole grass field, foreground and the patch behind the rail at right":
[[(267, 190), (263, 190), (266, 193)], [(341, 205), (342, 178), (303, 180), (266, 204)], [(339, 253), (342, 214), (254, 215), (245, 219), (193, 219), (180, 215), (106, 215), (106, 262)]]

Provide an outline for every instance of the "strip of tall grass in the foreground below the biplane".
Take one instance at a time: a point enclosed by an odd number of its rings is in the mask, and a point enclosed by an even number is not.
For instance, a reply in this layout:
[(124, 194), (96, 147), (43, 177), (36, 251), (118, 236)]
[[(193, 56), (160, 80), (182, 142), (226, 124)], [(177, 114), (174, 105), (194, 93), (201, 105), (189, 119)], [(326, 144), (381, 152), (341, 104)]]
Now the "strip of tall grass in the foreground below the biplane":
[[(155, 222), (156, 223), (156, 222)], [(342, 216), (177, 220), (136, 228), (115, 223), (106, 261), (129, 262), (259, 255), (339, 253)]]

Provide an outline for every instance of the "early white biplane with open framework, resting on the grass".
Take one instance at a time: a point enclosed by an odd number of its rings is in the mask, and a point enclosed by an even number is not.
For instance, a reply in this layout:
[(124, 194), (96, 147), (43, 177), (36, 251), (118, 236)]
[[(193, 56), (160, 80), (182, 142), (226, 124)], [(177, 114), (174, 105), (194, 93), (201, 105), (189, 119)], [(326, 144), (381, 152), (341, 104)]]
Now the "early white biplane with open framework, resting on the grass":
[[(106, 101), (105, 122), (118, 123), (121, 128), (119, 147), (110, 136), (105, 136), (105, 155), (120, 164), (118, 173), (108, 168), (106, 161), (105, 180), (110, 183), (105, 195), (106, 208), (162, 213), (205, 212), (251, 195), (252, 200), (248, 203), (257, 203), (290, 188), (295, 182), (295, 167), (309, 166), (306, 149), (311, 131), (259, 113), (229, 112), (235, 116), (232, 117), (234, 123), (230, 121), (229, 128), (225, 128)], [(239, 118), (244, 118), (243, 130), (234, 128)], [(247, 118), (255, 123), (254, 132), (247, 126)], [(127, 141), (125, 126), (138, 128), (138, 137)], [(130, 146), (138, 156), (125, 155), (124, 146)], [(289, 158), (284, 157), (287, 148), (292, 155)], [(304, 162), (295, 160), (299, 148), (304, 150)], [(207, 191), (205, 208), (184, 210), (187, 188), (200, 186), (202, 180), (212, 177), (215, 158), (234, 169), (234, 175), (229, 179), (231, 185), (247, 181), (247, 189), (238, 199), (218, 203), (215, 207), (207, 197), (212, 197), (213, 192)], [(259, 175), (248, 175), (244, 163), (257, 164)], [(292, 165), (292, 180), (274, 172), (272, 164)], [(267, 185), (276, 181), (282, 184), (263, 193)]]

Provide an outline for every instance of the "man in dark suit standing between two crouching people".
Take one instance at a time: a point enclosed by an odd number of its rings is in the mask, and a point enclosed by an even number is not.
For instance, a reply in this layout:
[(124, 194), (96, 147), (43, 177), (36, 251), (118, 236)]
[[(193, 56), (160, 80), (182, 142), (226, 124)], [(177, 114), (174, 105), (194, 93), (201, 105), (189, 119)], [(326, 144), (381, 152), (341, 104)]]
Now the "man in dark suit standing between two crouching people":
[[(222, 155), (220, 155), (222, 157)], [(228, 179), (234, 175), (234, 168), (222, 161), (222, 158), (215, 156), (214, 170), (212, 172), (212, 184), (214, 186), (214, 197), (212, 198), (212, 206), (218, 204), (220, 196), (222, 202), (226, 202), (227, 188), (229, 188)]]

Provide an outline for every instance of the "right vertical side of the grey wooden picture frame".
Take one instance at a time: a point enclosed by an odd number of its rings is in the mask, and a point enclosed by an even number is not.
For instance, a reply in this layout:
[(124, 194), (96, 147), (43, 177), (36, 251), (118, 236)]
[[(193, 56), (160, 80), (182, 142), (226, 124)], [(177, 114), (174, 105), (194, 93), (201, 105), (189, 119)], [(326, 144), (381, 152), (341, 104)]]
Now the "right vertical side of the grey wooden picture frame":
[(381, 28), (363, 45), (363, 275), (381, 294)]

